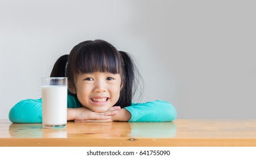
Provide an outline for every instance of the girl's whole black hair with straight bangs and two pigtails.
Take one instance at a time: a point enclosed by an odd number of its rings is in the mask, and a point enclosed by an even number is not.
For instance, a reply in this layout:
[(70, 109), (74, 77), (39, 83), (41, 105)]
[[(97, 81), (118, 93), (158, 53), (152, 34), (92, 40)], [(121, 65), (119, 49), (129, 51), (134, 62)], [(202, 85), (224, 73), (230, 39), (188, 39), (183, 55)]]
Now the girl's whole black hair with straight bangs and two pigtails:
[[(114, 106), (121, 108), (131, 105), (136, 88), (134, 86), (135, 67), (131, 55), (118, 51), (110, 43), (97, 39), (84, 41), (74, 46), (69, 55), (61, 56), (54, 64), (51, 77), (68, 77), (69, 89), (75, 91), (78, 74), (91, 72), (110, 72), (121, 75), (120, 98)], [(139, 77), (139, 73), (137, 74)]]

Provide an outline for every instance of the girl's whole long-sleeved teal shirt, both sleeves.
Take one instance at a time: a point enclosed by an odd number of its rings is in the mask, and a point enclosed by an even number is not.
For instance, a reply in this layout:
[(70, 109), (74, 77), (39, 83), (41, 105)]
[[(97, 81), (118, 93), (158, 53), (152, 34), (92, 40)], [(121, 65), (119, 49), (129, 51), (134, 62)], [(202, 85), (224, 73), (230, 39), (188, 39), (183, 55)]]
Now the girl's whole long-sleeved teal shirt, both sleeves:
[[(82, 107), (74, 95), (67, 95), (67, 108)], [(125, 107), (131, 113), (129, 122), (164, 122), (177, 117), (172, 104), (156, 100), (146, 103), (132, 103)], [(15, 104), (9, 112), (9, 120), (14, 123), (41, 123), (42, 99), (25, 99)]]

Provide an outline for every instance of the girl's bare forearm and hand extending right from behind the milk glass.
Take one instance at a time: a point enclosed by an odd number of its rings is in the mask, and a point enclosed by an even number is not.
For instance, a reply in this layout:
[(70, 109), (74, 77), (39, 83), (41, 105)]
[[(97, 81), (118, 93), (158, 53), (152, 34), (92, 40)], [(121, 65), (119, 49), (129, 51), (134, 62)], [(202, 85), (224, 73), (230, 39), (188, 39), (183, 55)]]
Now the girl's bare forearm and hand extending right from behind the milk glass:
[(75, 122), (110, 122), (112, 121), (111, 116), (116, 115), (118, 109), (120, 107), (111, 107), (108, 111), (99, 113), (86, 107), (68, 108), (67, 120), (74, 120)]

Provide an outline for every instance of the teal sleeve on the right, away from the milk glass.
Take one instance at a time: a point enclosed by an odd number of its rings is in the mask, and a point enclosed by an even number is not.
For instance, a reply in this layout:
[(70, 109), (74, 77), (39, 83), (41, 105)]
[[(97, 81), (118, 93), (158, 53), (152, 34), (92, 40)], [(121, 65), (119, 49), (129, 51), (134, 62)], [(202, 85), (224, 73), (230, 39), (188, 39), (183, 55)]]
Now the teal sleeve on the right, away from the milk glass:
[(177, 111), (172, 104), (156, 100), (146, 103), (132, 103), (125, 107), (131, 113), (129, 122), (164, 122), (173, 121), (177, 117)]

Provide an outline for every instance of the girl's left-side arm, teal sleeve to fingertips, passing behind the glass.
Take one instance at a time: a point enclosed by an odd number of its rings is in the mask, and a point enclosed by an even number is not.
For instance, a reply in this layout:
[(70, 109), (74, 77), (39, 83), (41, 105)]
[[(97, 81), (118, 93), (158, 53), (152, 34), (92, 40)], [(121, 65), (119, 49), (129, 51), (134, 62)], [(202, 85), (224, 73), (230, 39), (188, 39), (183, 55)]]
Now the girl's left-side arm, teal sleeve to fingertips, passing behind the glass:
[[(67, 120), (101, 120), (109, 121), (110, 115), (115, 115), (120, 107), (110, 108), (109, 111), (96, 113), (85, 107), (79, 107), (72, 99), (68, 100)], [(9, 120), (14, 123), (41, 123), (42, 99), (26, 99), (15, 104), (9, 112)]]

